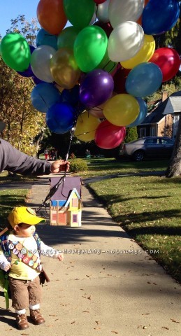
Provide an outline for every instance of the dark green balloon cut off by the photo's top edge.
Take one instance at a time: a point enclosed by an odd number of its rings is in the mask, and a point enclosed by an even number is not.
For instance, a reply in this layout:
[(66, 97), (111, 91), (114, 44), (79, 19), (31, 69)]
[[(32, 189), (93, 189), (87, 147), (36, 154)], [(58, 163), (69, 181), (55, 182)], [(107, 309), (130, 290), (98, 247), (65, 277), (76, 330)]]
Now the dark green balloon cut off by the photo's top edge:
[(64, 12), (71, 24), (79, 29), (85, 28), (94, 15), (93, 0), (64, 0)]

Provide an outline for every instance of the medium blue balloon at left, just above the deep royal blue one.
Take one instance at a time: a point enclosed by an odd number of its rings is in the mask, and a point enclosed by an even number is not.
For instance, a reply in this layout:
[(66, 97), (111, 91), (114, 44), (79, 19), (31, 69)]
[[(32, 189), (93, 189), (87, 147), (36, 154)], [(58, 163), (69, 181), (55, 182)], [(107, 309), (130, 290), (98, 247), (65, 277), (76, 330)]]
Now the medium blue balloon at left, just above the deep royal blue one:
[(50, 107), (61, 101), (59, 90), (52, 83), (37, 84), (31, 92), (31, 103), (40, 112), (46, 113)]

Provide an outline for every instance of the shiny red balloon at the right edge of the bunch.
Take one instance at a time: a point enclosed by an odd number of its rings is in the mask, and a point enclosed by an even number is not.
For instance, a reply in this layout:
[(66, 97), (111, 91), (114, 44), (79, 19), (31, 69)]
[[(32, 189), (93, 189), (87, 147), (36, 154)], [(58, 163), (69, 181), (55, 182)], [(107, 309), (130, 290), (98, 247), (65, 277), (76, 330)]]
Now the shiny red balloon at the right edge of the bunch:
[(149, 62), (157, 64), (163, 73), (162, 82), (166, 82), (175, 76), (180, 68), (180, 56), (173, 48), (159, 48), (154, 51)]

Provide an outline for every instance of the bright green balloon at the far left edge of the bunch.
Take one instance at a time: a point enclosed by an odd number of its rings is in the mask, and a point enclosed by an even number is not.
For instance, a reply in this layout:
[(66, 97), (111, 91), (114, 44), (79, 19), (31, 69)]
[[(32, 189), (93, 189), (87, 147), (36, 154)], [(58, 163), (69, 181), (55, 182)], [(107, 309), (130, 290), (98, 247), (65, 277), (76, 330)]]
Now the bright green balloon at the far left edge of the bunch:
[(1, 41), (3, 62), (15, 71), (25, 71), (29, 67), (31, 52), (26, 39), (17, 33), (10, 33)]

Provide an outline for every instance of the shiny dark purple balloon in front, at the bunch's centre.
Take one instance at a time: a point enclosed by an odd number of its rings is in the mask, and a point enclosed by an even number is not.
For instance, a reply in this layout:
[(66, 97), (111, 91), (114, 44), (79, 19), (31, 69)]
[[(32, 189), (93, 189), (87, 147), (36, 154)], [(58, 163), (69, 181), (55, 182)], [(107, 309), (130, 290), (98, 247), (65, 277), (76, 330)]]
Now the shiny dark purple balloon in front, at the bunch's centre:
[(113, 94), (114, 80), (107, 71), (90, 71), (80, 84), (80, 102), (92, 108), (105, 103)]

